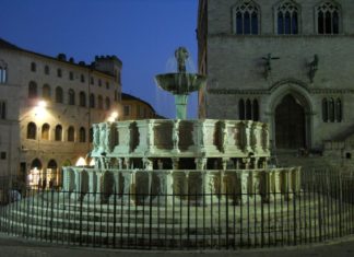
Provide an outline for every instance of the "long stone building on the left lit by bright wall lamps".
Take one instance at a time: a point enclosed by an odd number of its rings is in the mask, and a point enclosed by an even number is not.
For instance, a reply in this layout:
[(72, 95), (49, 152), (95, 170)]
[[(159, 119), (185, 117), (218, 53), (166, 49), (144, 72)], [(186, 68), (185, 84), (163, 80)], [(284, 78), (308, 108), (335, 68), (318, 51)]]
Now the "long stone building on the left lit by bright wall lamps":
[(76, 63), (0, 39), (0, 176), (59, 184), (61, 166), (90, 152), (92, 124), (121, 113), (121, 66), (115, 56)]

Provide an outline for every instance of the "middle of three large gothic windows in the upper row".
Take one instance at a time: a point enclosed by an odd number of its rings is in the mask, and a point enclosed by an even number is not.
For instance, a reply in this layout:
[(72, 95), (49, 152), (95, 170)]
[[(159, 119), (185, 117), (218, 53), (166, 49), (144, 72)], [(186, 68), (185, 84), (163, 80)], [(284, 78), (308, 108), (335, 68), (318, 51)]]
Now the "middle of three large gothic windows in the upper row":
[(276, 8), (276, 26), (279, 35), (298, 34), (298, 8), (291, 1), (281, 2)]

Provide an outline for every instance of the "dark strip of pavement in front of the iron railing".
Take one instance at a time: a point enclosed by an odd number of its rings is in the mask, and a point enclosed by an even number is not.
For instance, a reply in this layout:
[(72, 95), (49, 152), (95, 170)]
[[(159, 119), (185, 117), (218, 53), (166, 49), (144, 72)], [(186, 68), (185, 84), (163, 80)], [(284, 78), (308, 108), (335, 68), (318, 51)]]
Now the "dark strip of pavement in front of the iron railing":
[(0, 233), (0, 257), (354, 257), (354, 236), (311, 246), (250, 250), (156, 252), (51, 246)]

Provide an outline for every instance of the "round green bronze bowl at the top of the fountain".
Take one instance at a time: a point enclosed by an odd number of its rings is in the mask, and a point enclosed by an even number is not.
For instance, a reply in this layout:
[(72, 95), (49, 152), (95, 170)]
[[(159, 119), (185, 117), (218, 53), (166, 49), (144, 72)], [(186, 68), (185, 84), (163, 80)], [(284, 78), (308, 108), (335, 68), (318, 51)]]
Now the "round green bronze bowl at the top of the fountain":
[(165, 73), (155, 75), (157, 85), (175, 95), (189, 94), (206, 83), (206, 77), (197, 73)]

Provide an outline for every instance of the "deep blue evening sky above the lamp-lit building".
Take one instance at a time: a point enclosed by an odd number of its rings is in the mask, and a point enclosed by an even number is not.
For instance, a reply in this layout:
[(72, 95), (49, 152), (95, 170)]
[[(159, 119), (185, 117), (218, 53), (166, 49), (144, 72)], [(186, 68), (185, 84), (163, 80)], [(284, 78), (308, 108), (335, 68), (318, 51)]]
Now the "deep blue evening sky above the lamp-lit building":
[[(75, 61), (116, 55), (123, 62), (122, 91), (174, 117), (173, 97), (156, 89), (153, 77), (172, 71), (180, 45), (197, 68), (197, 10), (198, 0), (1, 0), (0, 37)], [(188, 113), (197, 117), (196, 93)]]

